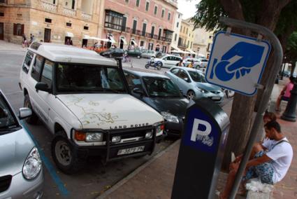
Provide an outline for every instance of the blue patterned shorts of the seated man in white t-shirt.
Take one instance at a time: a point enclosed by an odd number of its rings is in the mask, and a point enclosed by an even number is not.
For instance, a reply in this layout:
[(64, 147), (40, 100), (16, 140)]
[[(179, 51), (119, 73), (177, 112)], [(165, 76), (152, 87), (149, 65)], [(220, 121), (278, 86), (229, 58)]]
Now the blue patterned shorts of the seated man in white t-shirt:
[[(259, 158), (265, 154), (264, 151), (259, 151), (256, 153), (254, 158)], [(247, 170), (247, 173), (244, 177), (242, 177), (242, 181), (247, 181), (248, 179), (259, 177), (262, 183), (266, 184), (273, 184), (273, 166), (271, 165), (273, 160), (269, 161), (268, 163), (263, 163), (261, 165), (256, 165), (250, 167)]]

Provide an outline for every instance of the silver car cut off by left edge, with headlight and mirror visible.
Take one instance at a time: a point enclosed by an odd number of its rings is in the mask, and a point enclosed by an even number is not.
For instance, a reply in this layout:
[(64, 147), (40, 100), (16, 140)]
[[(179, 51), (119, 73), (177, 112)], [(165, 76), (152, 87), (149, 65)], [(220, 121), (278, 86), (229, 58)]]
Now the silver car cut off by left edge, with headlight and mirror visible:
[(41, 157), (19, 121), (31, 114), (31, 109), (21, 108), (17, 118), (0, 90), (0, 198), (43, 195)]

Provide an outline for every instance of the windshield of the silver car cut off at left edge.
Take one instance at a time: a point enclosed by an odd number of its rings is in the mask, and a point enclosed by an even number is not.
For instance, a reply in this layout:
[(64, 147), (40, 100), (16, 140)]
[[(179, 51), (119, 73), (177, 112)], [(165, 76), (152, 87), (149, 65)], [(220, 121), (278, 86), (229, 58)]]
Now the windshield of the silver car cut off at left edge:
[(18, 126), (17, 120), (13, 116), (12, 110), (0, 93), (0, 134)]

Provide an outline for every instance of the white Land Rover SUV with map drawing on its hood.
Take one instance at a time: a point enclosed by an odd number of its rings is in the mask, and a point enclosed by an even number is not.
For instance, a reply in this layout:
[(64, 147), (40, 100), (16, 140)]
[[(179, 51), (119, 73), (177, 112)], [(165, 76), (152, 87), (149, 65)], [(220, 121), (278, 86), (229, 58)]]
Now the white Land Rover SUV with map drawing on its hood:
[(129, 95), (122, 66), (94, 51), (32, 43), (20, 73), (24, 107), (55, 135), (52, 157), (71, 174), (87, 156), (104, 162), (145, 156), (163, 138), (164, 119)]

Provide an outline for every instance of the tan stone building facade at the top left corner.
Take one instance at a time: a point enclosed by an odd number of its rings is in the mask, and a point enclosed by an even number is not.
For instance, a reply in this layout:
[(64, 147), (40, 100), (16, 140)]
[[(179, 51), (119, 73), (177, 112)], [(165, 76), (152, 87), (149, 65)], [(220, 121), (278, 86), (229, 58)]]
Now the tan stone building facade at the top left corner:
[(22, 42), (22, 34), (36, 41), (82, 46), (97, 36), (104, 0), (0, 0), (0, 39)]

